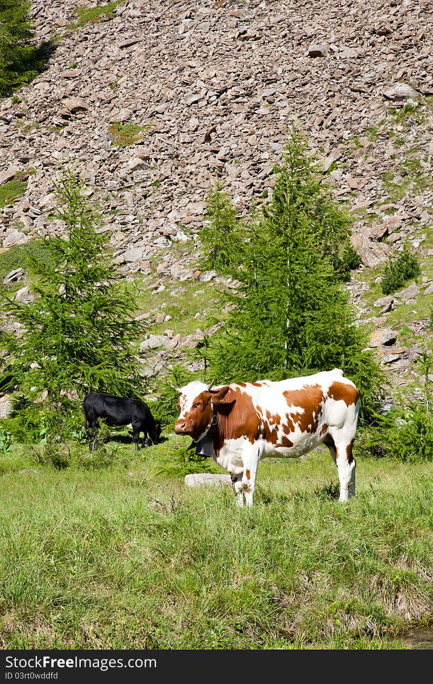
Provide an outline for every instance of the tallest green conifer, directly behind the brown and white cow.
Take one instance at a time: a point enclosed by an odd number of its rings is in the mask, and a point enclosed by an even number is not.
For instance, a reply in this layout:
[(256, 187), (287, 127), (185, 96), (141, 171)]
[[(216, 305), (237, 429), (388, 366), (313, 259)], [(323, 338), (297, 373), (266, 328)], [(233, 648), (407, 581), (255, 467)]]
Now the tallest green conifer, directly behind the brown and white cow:
[(366, 418), (383, 374), (364, 351), (367, 336), (332, 265), (340, 251), (346, 264), (356, 262), (347, 216), (320, 185), (305, 147), (293, 133), (272, 200), (244, 222), (232, 270), (239, 287), (226, 294), (226, 325), (209, 341), (210, 374), (218, 382), (281, 380), (338, 367), (358, 386)]

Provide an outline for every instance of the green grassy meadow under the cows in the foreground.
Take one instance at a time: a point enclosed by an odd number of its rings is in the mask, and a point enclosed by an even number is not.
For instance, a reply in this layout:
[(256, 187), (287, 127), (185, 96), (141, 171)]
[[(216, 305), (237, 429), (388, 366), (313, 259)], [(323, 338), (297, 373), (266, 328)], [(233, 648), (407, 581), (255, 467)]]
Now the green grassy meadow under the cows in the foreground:
[(238, 509), (185, 486), (185, 438), (123, 435), (99, 469), (85, 445), (63, 470), (0, 455), (0, 648), (404, 649), (432, 627), (431, 464), (357, 452), (341, 504), (326, 451), (263, 460)]

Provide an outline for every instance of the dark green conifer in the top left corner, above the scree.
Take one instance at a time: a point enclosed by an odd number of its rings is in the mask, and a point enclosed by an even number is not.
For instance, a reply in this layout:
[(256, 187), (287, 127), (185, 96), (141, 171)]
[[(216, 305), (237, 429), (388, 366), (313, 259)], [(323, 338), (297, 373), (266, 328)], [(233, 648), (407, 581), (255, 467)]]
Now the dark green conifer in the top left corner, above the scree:
[(0, 0), (0, 97), (34, 79), (44, 64), (34, 45), (27, 0)]

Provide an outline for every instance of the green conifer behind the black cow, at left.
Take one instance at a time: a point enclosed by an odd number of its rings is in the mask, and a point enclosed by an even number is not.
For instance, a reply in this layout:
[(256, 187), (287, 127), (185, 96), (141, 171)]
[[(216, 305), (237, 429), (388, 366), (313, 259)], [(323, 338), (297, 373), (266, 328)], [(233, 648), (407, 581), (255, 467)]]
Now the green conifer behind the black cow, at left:
[[(97, 232), (100, 215), (70, 170), (55, 185), (55, 196), (53, 218), (63, 222), (67, 238), (45, 238), (44, 259), (28, 250), (37, 276), (34, 302), (2, 297), (3, 311), (25, 329), (19, 336), (1, 334), (3, 373), (23, 397), (16, 410), (31, 424), (40, 423), (47, 407), (77, 406), (77, 393), (79, 399), (98, 391), (140, 397), (144, 389), (131, 347), (144, 324), (134, 319), (135, 297), (112, 263), (109, 236)], [(34, 404), (44, 390), (46, 401)]]

